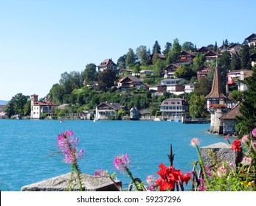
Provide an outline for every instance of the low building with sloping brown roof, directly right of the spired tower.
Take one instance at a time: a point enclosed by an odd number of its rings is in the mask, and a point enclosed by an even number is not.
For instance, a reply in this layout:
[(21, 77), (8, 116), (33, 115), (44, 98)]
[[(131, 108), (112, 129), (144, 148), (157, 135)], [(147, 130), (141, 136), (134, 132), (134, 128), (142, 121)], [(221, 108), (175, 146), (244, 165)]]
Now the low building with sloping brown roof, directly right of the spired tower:
[(238, 124), (237, 117), (241, 116), (240, 112), (240, 104), (237, 104), (232, 110), (229, 110), (219, 119), (222, 121), (223, 124), (223, 134), (234, 134), (235, 133), (235, 125)]

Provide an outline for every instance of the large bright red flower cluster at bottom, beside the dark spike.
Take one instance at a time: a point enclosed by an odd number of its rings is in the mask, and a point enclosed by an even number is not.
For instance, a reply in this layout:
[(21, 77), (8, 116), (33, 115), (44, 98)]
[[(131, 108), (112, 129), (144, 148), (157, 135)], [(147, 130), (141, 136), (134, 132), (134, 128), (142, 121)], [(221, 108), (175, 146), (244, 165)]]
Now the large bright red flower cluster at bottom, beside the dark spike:
[(179, 186), (183, 188), (183, 182), (190, 180), (189, 174), (182, 174), (182, 171), (174, 168), (173, 166), (167, 168), (163, 163), (159, 165), (160, 170), (156, 172), (160, 177), (156, 180), (157, 185), (159, 185), (160, 191), (166, 191), (168, 188), (170, 190), (174, 189), (175, 183), (178, 182)]

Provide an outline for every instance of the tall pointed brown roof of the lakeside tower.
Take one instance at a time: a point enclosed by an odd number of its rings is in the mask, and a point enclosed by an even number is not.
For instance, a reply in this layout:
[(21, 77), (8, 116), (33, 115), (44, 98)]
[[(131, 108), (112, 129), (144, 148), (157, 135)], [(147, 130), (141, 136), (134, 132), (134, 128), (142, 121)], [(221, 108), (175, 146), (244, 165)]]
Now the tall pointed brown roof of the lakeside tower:
[(205, 98), (214, 98), (214, 99), (223, 99), (226, 98), (223, 92), (223, 88), (221, 85), (221, 72), (218, 68), (218, 65), (215, 67), (214, 71), (214, 77), (213, 77), (213, 82), (212, 82), (212, 90), (210, 93), (205, 96)]

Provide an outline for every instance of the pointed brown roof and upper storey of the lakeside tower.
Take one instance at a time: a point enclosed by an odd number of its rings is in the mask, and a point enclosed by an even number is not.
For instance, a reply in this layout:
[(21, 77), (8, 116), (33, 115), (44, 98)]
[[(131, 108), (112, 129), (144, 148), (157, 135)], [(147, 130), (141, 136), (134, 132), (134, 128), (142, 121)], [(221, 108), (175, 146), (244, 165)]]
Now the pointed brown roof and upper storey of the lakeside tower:
[(214, 77), (212, 82), (212, 90), (205, 96), (207, 99), (207, 109), (210, 110), (213, 104), (225, 104), (226, 96), (221, 85), (221, 72), (218, 65), (215, 67)]

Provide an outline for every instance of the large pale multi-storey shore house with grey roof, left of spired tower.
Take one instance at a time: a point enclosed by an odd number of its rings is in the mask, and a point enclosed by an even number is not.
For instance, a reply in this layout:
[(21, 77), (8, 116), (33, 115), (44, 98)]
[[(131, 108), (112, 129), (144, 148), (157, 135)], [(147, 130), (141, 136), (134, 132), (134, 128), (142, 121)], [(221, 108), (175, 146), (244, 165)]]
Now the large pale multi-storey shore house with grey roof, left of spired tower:
[(160, 112), (165, 113), (165, 116), (181, 118), (184, 113), (189, 110), (187, 101), (181, 98), (165, 99), (160, 105)]

